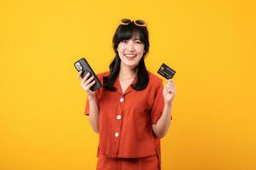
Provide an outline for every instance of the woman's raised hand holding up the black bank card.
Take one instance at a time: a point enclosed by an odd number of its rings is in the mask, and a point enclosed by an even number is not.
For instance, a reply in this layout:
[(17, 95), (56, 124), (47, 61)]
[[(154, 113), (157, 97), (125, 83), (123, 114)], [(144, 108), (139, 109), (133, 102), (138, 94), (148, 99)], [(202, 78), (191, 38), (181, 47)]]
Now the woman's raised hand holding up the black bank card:
[(168, 79), (166, 85), (162, 90), (162, 95), (164, 103), (171, 105), (174, 100), (174, 95), (176, 94), (176, 87), (174, 86), (174, 80)]

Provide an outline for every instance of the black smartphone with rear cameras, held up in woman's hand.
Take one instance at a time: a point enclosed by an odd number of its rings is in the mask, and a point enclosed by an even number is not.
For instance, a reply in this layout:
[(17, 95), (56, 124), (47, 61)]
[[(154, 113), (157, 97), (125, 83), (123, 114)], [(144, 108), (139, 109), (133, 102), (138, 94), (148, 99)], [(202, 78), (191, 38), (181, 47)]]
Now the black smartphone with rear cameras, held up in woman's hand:
[(98, 79), (98, 77), (95, 75), (93, 69), (91, 68), (91, 66), (88, 64), (87, 60), (82, 58), (77, 60), (77, 62), (74, 63), (75, 68), (77, 69), (77, 71), (82, 71), (81, 77), (85, 77), (85, 75), (89, 72), (90, 76), (94, 76), (94, 80), (95, 83), (94, 85), (90, 88), (92, 91), (95, 91), (96, 89), (100, 88), (102, 85), (100, 83), (100, 80)]

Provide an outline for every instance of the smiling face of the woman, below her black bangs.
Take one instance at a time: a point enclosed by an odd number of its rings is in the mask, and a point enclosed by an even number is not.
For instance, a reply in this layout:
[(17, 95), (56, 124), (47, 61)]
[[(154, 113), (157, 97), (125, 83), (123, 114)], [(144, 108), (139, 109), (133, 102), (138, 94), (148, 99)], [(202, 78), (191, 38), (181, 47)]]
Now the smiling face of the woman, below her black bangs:
[(139, 60), (143, 56), (144, 43), (140, 41), (139, 34), (129, 40), (119, 42), (117, 52), (122, 64), (134, 68), (139, 64)]

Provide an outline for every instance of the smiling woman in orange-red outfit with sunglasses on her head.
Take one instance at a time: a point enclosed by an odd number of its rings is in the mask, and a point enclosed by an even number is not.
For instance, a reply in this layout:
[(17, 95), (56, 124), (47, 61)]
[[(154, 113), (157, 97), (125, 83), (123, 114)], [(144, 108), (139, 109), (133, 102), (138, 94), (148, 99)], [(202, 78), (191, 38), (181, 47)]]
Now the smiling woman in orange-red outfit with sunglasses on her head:
[(160, 170), (160, 139), (168, 132), (176, 88), (146, 70), (149, 34), (144, 20), (121, 20), (113, 37), (110, 71), (78, 77), (88, 94), (85, 114), (100, 134), (97, 169)]

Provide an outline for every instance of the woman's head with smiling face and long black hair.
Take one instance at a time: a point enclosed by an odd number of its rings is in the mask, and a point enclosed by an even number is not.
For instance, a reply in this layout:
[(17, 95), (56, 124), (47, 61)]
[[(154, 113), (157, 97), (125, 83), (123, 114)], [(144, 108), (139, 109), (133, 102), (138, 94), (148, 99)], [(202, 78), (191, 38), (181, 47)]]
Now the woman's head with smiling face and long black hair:
[[(110, 65), (111, 74), (109, 77), (104, 77), (103, 86), (109, 90), (115, 90), (113, 87), (114, 80), (123, 75), (122, 71), (119, 73), (120, 67), (124, 69), (128, 67), (128, 70), (133, 71), (128, 77), (134, 77), (137, 72), (139, 78), (139, 81), (132, 87), (137, 90), (144, 89), (149, 81), (144, 60), (150, 48), (147, 28), (145, 26), (137, 26), (134, 22), (130, 22), (128, 25), (120, 24), (112, 42), (116, 56)], [(124, 72), (128, 73), (130, 71)]]

